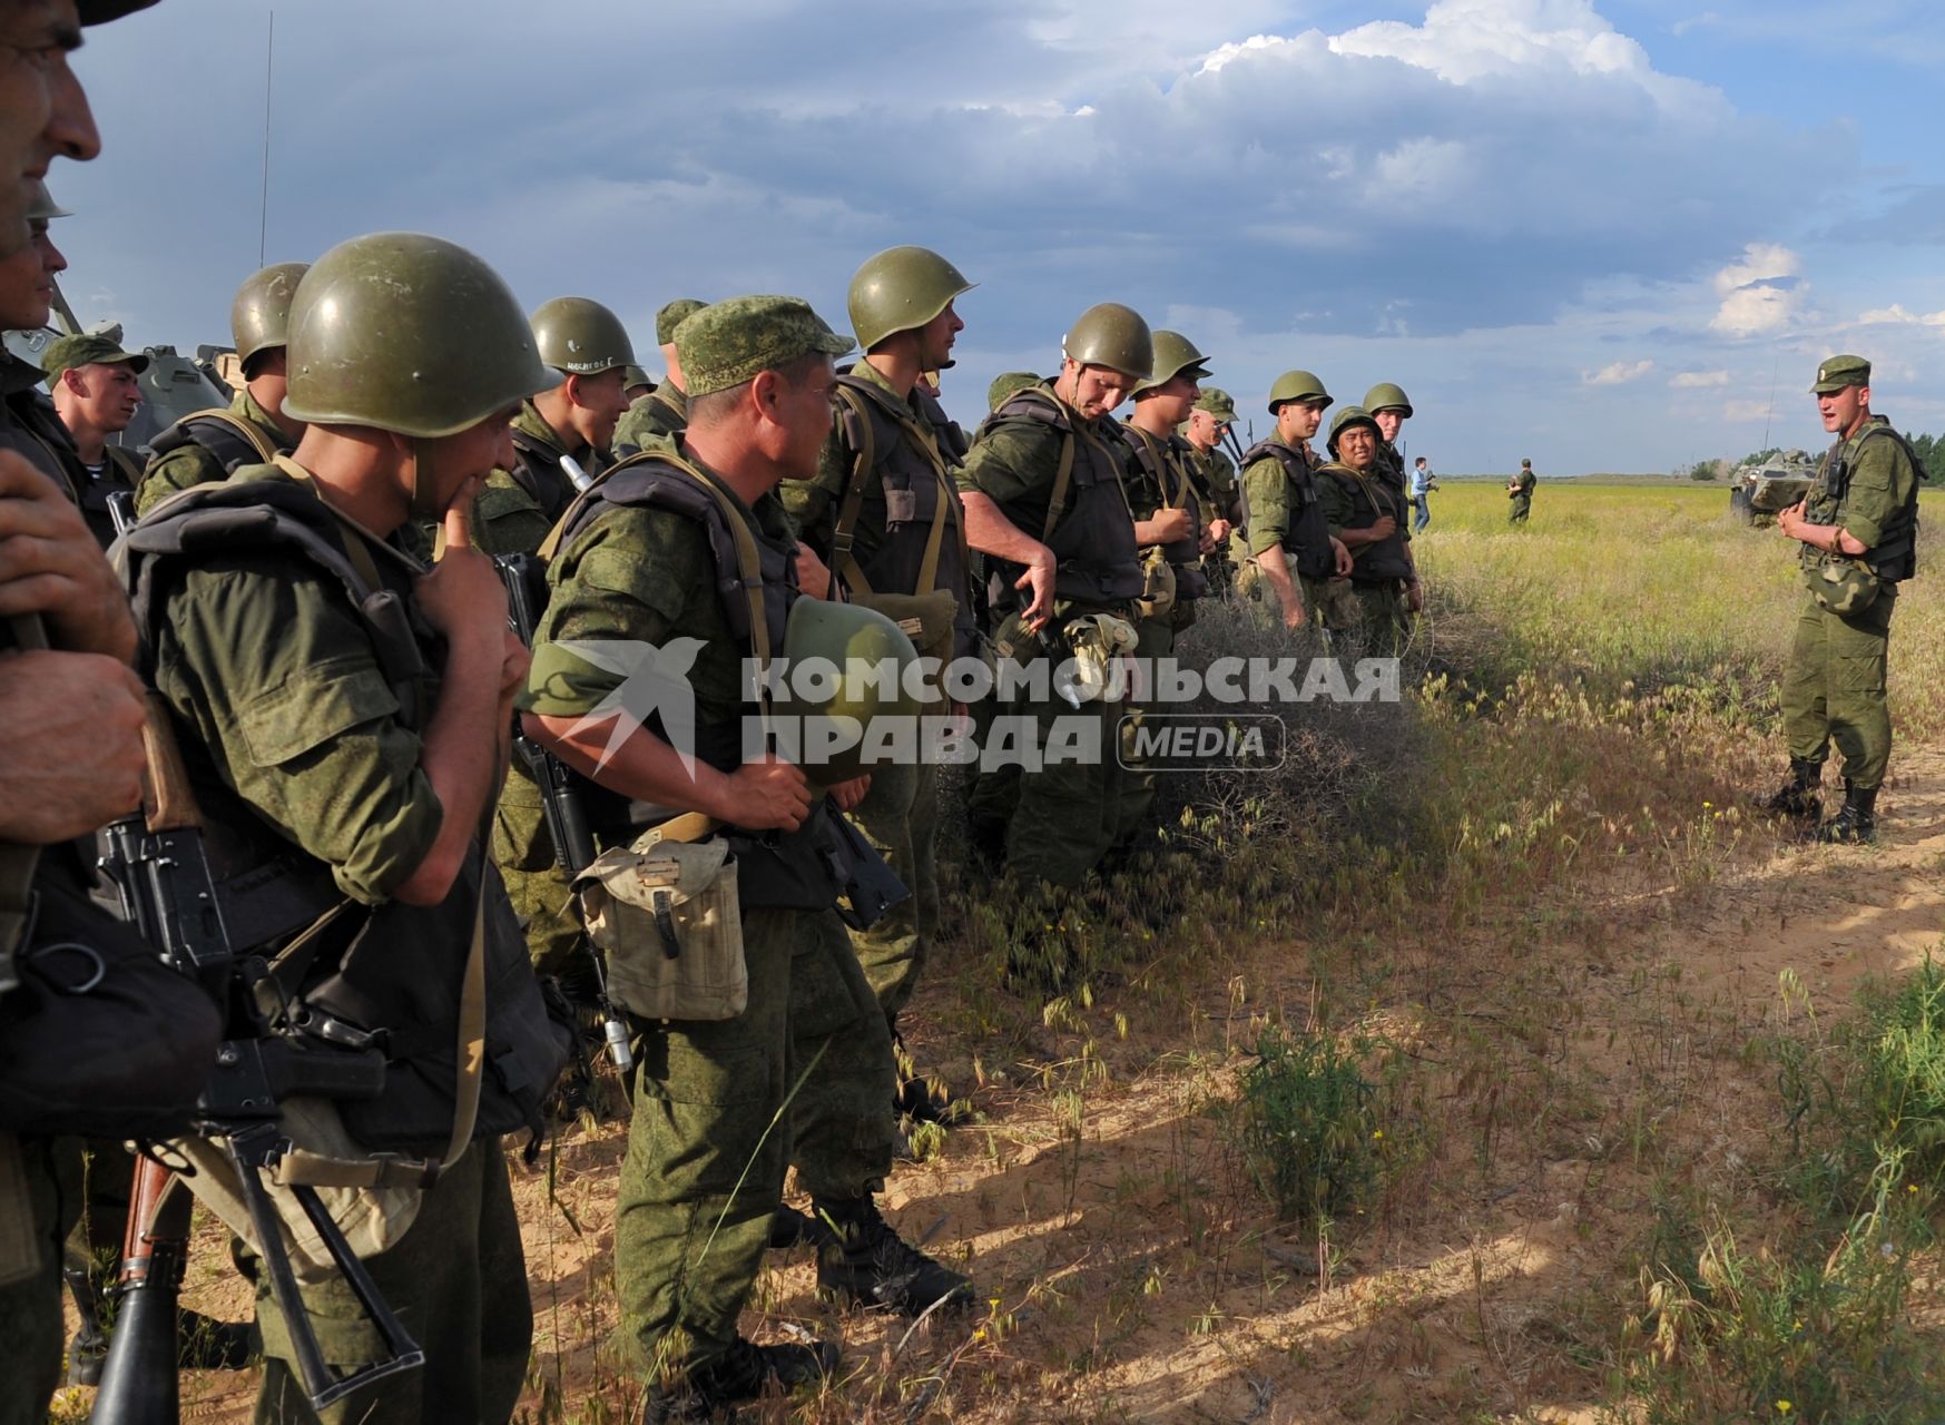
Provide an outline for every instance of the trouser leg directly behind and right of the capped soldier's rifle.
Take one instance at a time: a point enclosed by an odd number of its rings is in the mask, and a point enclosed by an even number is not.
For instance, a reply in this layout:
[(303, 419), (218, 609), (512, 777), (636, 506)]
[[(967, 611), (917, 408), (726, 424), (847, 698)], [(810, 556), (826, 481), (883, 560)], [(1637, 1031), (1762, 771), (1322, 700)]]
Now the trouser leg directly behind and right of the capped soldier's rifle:
[(871, 789), (852, 820), (912, 892), (871, 929), (850, 931), (864, 978), (895, 1026), (939, 929), (939, 770), (924, 762), (871, 768)]

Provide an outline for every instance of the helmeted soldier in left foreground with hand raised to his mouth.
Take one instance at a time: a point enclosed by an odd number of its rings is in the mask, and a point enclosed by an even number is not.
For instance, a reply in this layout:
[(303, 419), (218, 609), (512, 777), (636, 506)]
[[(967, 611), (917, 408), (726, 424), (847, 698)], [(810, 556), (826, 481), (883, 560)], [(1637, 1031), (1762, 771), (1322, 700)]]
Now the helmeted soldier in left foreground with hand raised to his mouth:
[[(354, 908), (286, 990), (311, 1023), (387, 1044), (383, 1095), (342, 1106), (362, 1149), (434, 1164), (447, 1153), (463, 1124), (449, 1087), (461, 993), (484, 956), (471, 1141), (399, 1242), (366, 1260), (426, 1365), (354, 1392), (327, 1421), (506, 1421), (525, 1380), (533, 1318), (500, 1135), (537, 1130), (566, 1040), (478, 834), (527, 659), (465, 515), (508, 420), (550, 383), (512, 292), (477, 257), (420, 233), (340, 243), (290, 309), (298, 449), (144, 521), (159, 546), (144, 558), (165, 568), (130, 558), (130, 587), (158, 591), (138, 618), (212, 869), (274, 877), (282, 920), (305, 939), (321, 912)], [(274, 519), (245, 529), (239, 507)], [(397, 542), (414, 515), (447, 533), (430, 572)], [(181, 531), (183, 552), (163, 529)], [(336, 564), (307, 552), (319, 542)], [(288, 939), (253, 949), (274, 958)], [(327, 1361), (373, 1359), (342, 1281), (305, 1285), (303, 1301)], [(311, 1419), (266, 1285), (257, 1320), (257, 1417)]]

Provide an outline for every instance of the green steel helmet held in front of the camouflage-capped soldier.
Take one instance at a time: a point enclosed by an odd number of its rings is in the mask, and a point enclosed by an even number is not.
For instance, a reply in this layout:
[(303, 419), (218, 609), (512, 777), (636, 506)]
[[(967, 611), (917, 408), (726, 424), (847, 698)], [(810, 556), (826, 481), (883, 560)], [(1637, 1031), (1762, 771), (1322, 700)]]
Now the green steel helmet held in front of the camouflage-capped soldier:
[[(794, 694), (788, 704), (780, 704), (784, 713), (805, 719), (850, 717), (869, 735), (873, 717), (916, 717), (922, 712), (906, 678), (906, 669), (918, 661), (918, 649), (902, 628), (875, 608), (829, 599), (797, 599), (790, 605), (790, 620), (784, 624), (784, 657), (790, 659)], [(817, 677), (807, 677), (799, 684), (799, 671), (813, 669)], [(825, 696), (803, 696), (819, 684)], [(815, 766), (805, 766), (805, 776), (829, 787), (869, 772), (864, 741), (834, 750)], [(805, 737), (805, 748), (817, 745), (815, 737)]]

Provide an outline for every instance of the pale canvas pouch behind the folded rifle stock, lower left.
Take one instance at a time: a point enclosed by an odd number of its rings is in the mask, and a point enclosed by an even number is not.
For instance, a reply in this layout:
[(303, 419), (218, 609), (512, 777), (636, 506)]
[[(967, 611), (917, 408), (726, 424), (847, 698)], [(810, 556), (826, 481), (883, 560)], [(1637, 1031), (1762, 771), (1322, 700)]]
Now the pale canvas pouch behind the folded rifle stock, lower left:
[[(418, 1207), (426, 1194), (416, 1172), (401, 1172), (408, 1180), (377, 1188), (333, 1186), (329, 1182), (333, 1163), (371, 1174), (377, 1164), (387, 1161), (383, 1153), (371, 1153), (352, 1139), (344, 1130), (344, 1116), (331, 1098), (286, 1098), (282, 1133), (292, 1149), (284, 1153), (274, 1172), (263, 1174), (263, 1186), (276, 1207), (278, 1236), (284, 1238), (290, 1268), (298, 1273), (300, 1283), (313, 1287), (335, 1281), (338, 1266), (331, 1260), (331, 1250), (311, 1227), (303, 1207), (298, 1205), (298, 1198), (290, 1190), (292, 1184), (303, 1182), (317, 1190), (317, 1199), (360, 1260), (397, 1246), (399, 1238), (418, 1221)], [(251, 1252), (263, 1256), (263, 1242), (257, 1238), (257, 1225), (249, 1215), (243, 1180), (230, 1157), (228, 1141), (189, 1137), (171, 1143), (169, 1149), (171, 1157), (189, 1163), (191, 1170), (183, 1174), (183, 1182), (196, 1201), (241, 1236)]]

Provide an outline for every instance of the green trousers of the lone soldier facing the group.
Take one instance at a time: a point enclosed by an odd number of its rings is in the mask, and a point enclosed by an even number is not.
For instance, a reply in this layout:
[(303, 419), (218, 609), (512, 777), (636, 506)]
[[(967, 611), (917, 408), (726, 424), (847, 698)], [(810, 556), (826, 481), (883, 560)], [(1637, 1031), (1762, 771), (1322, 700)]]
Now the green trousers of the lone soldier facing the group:
[(1836, 743), (1844, 776), (1861, 791), (1883, 785), (1891, 762), (1885, 655), (1896, 603), (1896, 585), (1887, 585), (1863, 612), (1844, 616), (1805, 593), (1784, 669), (1789, 756), (1822, 764)]

